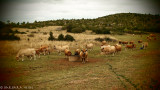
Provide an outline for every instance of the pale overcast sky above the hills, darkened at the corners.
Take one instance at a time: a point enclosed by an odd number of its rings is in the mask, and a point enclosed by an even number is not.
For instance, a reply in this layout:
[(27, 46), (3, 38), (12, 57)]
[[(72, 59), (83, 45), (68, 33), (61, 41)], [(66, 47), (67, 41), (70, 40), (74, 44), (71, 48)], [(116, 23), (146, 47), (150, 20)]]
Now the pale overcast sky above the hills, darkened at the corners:
[(159, 0), (1, 0), (0, 21), (98, 18), (116, 13), (160, 14)]

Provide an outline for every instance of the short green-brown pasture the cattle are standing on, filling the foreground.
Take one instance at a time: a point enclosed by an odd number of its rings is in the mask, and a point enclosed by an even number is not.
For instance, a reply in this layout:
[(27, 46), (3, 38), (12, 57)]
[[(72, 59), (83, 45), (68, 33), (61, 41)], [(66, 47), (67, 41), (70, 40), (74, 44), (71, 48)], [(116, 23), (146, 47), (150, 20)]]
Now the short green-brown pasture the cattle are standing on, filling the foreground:
[[(112, 56), (101, 55), (100, 44), (97, 44), (93, 51), (89, 51), (89, 62), (85, 64), (69, 62), (64, 54), (58, 55), (57, 52), (41, 56), (37, 60), (30, 61), (25, 58), (23, 62), (17, 62), (15, 55), (19, 49), (18, 41), (1, 42), (4, 43), (5, 49), (9, 46), (12, 48), (6, 51), (2, 49), (5, 53), (0, 56), (0, 86), (19, 86), (22, 89), (36, 90), (160, 89), (160, 40), (152, 40), (146, 50), (140, 50), (141, 45), (137, 41), (146, 41), (146, 36), (114, 35), (118, 40), (135, 41), (137, 47), (134, 50), (125, 50), (123, 46), (121, 52)], [(25, 41), (19, 41), (22, 42)], [(75, 42), (69, 43), (74, 46)], [(30, 47), (30, 44), (26, 44), (26, 47), (27, 45)], [(33, 47), (36, 46), (38, 47)], [(73, 52), (74, 48), (71, 49)]]

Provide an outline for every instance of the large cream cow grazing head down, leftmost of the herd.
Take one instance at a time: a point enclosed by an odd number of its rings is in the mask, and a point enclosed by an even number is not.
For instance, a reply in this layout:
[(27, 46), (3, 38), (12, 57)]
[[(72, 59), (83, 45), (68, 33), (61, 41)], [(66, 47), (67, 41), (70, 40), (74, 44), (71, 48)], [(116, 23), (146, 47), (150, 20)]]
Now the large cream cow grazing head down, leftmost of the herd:
[(32, 60), (32, 57), (34, 57), (34, 60), (36, 60), (36, 51), (34, 48), (27, 48), (27, 49), (21, 49), (16, 55), (17, 61), (19, 58), (22, 58), (22, 61), (24, 60), (24, 56), (30, 57), (30, 60)]

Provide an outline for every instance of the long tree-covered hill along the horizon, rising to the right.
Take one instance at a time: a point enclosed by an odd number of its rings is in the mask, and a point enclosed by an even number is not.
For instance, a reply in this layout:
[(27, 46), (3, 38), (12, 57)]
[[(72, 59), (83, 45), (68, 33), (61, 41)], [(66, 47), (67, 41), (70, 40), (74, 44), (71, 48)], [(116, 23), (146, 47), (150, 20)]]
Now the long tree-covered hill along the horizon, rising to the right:
[[(36, 28), (44, 26), (64, 26), (63, 29), (92, 30), (109, 30), (113, 32), (160, 32), (160, 15), (137, 14), (137, 13), (118, 13), (107, 15), (96, 19), (61, 19), (49, 21), (35, 21), (34, 23), (10, 23), (13, 27)], [(77, 29), (78, 28), (78, 29)], [(101, 31), (100, 33), (103, 33)], [(99, 32), (98, 32), (99, 33)]]

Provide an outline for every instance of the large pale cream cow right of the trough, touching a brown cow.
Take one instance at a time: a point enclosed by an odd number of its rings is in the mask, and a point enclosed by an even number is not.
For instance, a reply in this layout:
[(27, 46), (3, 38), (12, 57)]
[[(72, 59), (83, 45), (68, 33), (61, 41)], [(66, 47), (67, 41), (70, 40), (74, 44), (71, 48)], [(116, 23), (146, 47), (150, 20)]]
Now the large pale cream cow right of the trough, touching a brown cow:
[(106, 46), (104, 48), (101, 49), (102, 52), (105, 52), (105, 54), (115, 54), (116, 52), (116, 48), (115, 46)]

